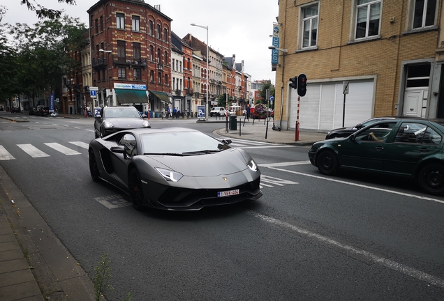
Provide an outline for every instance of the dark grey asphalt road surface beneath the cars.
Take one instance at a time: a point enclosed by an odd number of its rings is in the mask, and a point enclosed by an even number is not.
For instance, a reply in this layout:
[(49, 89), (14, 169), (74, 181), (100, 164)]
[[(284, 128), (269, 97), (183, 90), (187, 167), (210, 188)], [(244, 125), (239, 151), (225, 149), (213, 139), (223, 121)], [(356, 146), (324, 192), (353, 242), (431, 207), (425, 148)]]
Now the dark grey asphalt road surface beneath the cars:
[[(260, 165), (261, 199), (140, 213), (124, 193), (91, 180), (92, 118), (27, 118), (0, 119), (0, 146), (14, 157), (0, 164), (89, 275), (108, 253), (115, 288), (108, 300), (128, 292), (133, 300), (444, 298), (444, 198), (415, 183), (326, 177), (309, 164), (309, 147), (234, 139)], [(23, 144), (47, 156), (31, 157)]]

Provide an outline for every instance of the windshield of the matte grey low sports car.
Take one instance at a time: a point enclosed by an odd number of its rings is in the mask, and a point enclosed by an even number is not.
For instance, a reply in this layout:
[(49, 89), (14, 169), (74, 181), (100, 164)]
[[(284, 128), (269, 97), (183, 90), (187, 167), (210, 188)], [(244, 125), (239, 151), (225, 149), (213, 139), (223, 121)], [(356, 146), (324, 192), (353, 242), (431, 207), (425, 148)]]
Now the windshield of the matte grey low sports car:
[(202, 132), (155, 132), (141, 134), (145, 154), (183, 154), (217, 152), (230, 146)]

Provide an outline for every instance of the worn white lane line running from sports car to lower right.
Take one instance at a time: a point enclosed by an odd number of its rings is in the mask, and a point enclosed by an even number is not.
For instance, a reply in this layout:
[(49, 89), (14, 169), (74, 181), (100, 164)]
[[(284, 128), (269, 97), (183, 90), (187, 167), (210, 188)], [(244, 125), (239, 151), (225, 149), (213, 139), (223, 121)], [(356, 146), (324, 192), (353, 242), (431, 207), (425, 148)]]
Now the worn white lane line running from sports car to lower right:
[(300, 236), (304, 238), (309, 238), (311, 240), (317, 240), (318, 242), (322, 242), (325, 245), (330, 245), (335, 249), (341, 249), (345, 254), (354, 254), (359, 258), (363, 258), (364, 261), (370, 261), (371, 263), (376, 263), (377, 265), (382, 265), (385, 268), (390, 268), (391, 270), (401, 272), (404, 275), (408, 275), (420, 281), (425, 281), (431, 285), (439, 286), (444, 288), (444, 279), (439, 277), (435, 277), (433, 275), (427, 274), (426, 272), (422, 272), (415, 268), (411, 268), (408, 265), (403, 265), (396, 261), (392, 261), (390, 259), (378, 256), (371, 252), (365, 251), (364, 249), (359, 249), (357, 247), (353, 247), (352, 245), (346, 245), (332, 238), (328, 238), (327, 236), (322, 236), (318, 233), (309, 231), (307, 229), (299, 228), (293, 224), (289, 224), (288, 222), (282, 222), (279, 219), (275, 219), (273, 217), (269, 217), (267, 215), (262, 215), (260, 213), (256, 213), (252, 210), (246, 210), (246, 213), (252, 215), (253, 217), (257, 217), (258, 219), (262, 219), (262, 221), (267, 222), (269, 224), (274, 224), (283, 229), (288, 229), (290, 231), (298, 233)]

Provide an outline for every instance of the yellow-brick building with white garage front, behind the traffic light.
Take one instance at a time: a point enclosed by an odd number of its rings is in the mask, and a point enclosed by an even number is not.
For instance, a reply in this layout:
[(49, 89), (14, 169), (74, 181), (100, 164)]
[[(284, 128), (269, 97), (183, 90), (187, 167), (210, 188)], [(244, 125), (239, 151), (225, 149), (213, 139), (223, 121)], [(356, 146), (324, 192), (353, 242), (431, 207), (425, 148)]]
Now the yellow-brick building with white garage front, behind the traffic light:
[[(441, 0), (279, 1), (276, 125), (326, 131), (377, 116), (444, 118)], [(277, 31), (277, 32), (276, 32)], [(275, 43), (275, 39), (274, 39)], [(343, 82), (349, 82), (343, 116)]]

